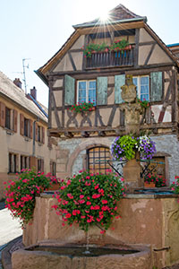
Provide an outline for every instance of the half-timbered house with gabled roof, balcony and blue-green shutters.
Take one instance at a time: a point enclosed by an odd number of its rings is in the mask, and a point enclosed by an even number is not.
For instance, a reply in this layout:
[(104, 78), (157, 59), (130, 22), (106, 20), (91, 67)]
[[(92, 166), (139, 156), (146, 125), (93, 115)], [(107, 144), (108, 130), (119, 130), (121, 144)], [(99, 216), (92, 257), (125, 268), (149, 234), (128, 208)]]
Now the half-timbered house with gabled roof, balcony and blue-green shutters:
[[(162, 26), (161, 26), (162, 27)], [(179, 174), (178, 58), (149, 27), (147, 18), (119, 4), (107, 22), (74, 25), (74, 31), (38, 76), (49, 87), (48, 132), (59, 137), (57, 174), (67, 177), (80, 169), (104, 171), (109, 147), (125, 134), (121, 86), (132, 74), (141, 100), (150, 107), (141, 116), (141, 131), (150, 131), (157, 144), (155, 159), (164, 162), (158, 173), (172, 181)], [(125, 39), (124, 53), (103, 51), (85, 57), (90, 43), (107, 45)], [(95, 110), (76, 113), (74, 104), (94, 102)]]

